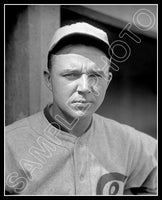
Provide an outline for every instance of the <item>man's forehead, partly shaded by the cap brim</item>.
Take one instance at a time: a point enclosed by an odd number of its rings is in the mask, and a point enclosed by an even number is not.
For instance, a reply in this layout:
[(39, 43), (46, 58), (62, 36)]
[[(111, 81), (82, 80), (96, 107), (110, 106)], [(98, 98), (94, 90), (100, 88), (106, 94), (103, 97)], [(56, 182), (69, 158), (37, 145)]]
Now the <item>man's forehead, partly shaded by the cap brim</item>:
[(53, 56), (53, 60), (55, 67), (59, 67), (59, 69), (60, 67), (69, 67), (69, 65), (71, 67), (75, 66), (78, 68), (83, 65), (93, 68), (103, 68), (105, 66), (109, 66), (109, 60), (101, 50), (85, 45), (66, 46), (60, 50), (56, 56)]

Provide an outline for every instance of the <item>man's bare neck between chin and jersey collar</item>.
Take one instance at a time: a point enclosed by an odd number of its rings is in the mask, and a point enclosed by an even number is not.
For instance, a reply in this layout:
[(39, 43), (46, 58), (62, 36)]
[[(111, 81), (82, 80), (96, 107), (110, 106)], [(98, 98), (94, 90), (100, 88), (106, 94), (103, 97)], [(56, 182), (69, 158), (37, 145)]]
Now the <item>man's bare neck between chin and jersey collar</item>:
[(76, 137), (83, 135), (91, 125), (92, 115), (80, 118), (67, 117), (54, 104), (49, 108), (49, 112), (60, 126)]

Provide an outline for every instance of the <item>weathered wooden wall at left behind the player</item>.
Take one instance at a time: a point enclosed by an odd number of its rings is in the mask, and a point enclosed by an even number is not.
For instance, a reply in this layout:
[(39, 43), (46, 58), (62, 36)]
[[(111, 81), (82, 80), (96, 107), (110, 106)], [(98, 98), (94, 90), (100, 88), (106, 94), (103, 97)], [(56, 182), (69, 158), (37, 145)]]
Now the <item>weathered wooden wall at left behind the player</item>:
[(44, 84), (43, 69), (49, 43), (60, 26), (60, 7), (6, 5), (5, 18), (7, 125), (36, 113), (52, 101)]

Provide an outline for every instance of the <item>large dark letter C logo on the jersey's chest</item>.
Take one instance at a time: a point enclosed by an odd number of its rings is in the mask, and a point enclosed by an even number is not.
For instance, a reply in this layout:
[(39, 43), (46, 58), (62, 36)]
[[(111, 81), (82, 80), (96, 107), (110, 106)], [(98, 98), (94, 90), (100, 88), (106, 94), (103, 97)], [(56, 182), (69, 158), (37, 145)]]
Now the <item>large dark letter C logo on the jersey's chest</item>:
[(123, 194), (124, 181), (126, 176), (119, 173), (104, 174), (97, 183), (97, 195), (117, 195)]

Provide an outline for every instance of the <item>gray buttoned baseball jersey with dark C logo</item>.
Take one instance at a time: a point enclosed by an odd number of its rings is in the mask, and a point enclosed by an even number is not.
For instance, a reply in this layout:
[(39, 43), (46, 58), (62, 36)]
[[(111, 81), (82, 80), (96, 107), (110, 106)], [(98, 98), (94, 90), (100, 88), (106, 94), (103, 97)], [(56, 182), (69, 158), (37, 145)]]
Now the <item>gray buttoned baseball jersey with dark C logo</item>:
[(48, 107), (6, 127), (6, 191), (19, 195), (156, 194), (156, 140), (93, 114), (71, 135)]

